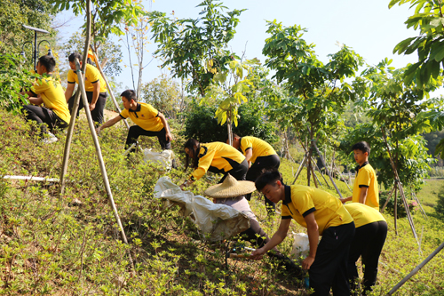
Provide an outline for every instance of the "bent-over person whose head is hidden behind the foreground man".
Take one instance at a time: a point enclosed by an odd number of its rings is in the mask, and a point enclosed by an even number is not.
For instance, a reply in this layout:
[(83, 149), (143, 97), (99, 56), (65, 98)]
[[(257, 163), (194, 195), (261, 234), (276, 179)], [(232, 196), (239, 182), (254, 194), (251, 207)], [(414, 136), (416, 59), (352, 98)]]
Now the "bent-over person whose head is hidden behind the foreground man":
[(348, 278), (352, 290), (355, 290), (359, 278), (356, 261), (361, 257), (364, 273), (362, 295), (367, 295), (377, 283), (377, 264), (387, 237), (387, 222), (380, 212), (368, 205), (351, 203), (344, 206), (352, 215), (356, 227), (348, 255)]

